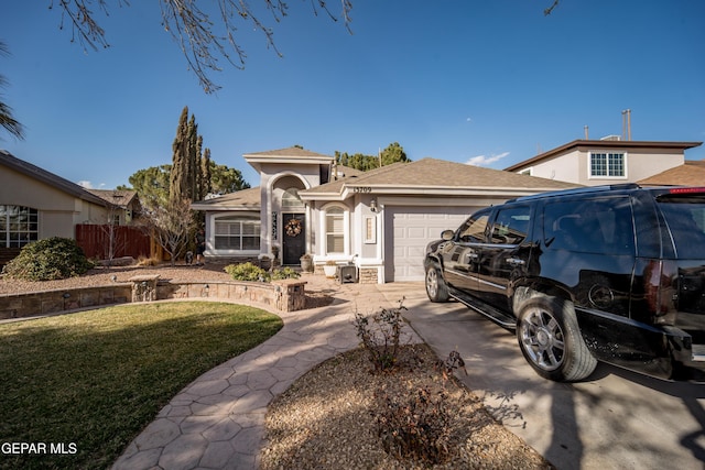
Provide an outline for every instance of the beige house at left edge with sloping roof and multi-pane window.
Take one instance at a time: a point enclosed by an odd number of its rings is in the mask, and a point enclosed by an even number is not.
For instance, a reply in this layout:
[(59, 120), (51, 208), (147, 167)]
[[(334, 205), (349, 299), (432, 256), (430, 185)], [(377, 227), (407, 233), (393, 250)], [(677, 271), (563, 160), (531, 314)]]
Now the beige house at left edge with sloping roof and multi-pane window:
[(107, 206), (77, 184), (0, 150), (0, 263), (32, 241), (73, 239), (77, 223), (106, 223)]

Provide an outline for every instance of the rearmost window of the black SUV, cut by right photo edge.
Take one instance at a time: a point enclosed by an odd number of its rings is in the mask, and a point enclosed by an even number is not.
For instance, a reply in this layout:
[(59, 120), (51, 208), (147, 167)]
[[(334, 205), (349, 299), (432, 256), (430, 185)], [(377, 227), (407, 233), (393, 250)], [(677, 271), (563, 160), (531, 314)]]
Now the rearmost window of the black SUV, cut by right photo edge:
[(679, 258), (703, 258), (705, 199), (672, 196), (660, 197), (658, 201)]

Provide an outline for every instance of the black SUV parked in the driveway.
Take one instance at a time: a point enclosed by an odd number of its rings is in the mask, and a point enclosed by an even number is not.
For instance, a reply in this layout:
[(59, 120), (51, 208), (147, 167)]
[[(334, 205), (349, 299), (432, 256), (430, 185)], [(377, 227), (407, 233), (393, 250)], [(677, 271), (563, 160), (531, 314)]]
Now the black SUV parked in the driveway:
[(542, 376), (705, 372), (705, 187), (600, 186), (479, 210), (426, 248), (429, 298), (507, 328)]

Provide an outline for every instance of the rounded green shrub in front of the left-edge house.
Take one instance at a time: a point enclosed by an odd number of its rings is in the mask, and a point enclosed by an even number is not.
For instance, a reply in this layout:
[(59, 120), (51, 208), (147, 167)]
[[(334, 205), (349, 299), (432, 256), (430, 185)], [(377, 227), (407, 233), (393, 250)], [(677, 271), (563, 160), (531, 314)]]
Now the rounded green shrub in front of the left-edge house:
[(94, 266), (75, 240), (52, 237), (24, 245), (2, 274), (25, 281), (53, 281), (79, 276)]

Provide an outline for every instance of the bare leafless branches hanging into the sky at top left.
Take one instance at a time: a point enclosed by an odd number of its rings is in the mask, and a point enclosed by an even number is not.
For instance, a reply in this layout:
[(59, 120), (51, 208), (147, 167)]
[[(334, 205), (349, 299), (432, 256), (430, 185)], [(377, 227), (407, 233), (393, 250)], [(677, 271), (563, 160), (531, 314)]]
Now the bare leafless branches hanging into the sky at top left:
[[(115, 0), (118, 6), (129, 6), (126, 0)], [(274, 44), (274, 32), (267, 25), (262, 14), (270, 15), (269, 21), (281, 22), (289, 14), (289, 4), (284, 0), (159, 0), (162, 8), (162, 28), (169, 31), (180, 45), (188, 64), (206, 92), (217, 91), (220, 87), (209, 77), (213, 72), (220, 72), (219, 59), (236, 68), (245, 68), (247, 54), (242, 46), (241, 34), (246, 31), (259, 31), (264, 35), (268, 47), (279, 56), (282, 54)], [(84, 50), (98, 46), (109, 47), (106, 32), (98, 24), (93, 4), (107, 17), (109, 0), (56, 0), (62, 11), (61, 28), (67, 20), (73, 29), (72, 42), (77, 39)], [(340, 0), (341, 12), (335, 15), (328, 10), (325, 0), (312, 0), (315, 15), (325, 12), (332, 20), (343, 19), (348, 28), (350, 23), (351, 0)], [(51, 1), (50, 8), (54, 6)], [(217, 19), (217, 20), (214, 20)]]

